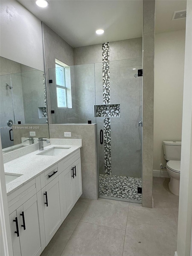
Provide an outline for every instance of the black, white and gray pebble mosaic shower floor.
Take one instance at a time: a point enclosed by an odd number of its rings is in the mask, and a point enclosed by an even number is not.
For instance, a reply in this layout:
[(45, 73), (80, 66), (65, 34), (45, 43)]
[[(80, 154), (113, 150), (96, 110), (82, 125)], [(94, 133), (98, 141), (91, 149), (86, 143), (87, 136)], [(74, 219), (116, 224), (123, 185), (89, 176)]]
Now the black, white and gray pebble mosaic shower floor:
[(99, 190), (102, 196), (141, 201), (142, 194), (137, 193), (137, 187), (141, 187), (141, 184), (141, 178), (99, 174)]

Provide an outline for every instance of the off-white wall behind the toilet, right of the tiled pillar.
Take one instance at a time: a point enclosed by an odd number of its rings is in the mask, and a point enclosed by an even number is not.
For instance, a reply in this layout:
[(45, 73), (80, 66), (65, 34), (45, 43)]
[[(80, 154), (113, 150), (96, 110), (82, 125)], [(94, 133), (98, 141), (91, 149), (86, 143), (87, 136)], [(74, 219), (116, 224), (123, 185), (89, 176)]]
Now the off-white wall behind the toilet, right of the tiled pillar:
[(181, 140), (185, 30), (155, 35), (153, 170), (166, 166), (163, 140)]

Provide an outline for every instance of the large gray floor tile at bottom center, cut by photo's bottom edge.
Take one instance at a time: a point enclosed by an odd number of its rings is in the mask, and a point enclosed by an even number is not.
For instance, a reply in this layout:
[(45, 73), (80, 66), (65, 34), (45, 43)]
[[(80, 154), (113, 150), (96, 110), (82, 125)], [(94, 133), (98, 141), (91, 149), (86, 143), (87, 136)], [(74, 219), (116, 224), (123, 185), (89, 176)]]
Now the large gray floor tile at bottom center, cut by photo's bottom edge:
[(122, 256), (125, 231), (79, 221), (62, 256)]

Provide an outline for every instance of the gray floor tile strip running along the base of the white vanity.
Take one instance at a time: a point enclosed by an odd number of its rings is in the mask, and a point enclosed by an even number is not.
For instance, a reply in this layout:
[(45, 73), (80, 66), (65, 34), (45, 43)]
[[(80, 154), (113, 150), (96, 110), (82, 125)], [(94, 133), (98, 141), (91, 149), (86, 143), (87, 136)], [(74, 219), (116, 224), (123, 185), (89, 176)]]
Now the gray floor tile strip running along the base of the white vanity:
[(41, 256), (60, 256), (89, 202), (78, 200)]

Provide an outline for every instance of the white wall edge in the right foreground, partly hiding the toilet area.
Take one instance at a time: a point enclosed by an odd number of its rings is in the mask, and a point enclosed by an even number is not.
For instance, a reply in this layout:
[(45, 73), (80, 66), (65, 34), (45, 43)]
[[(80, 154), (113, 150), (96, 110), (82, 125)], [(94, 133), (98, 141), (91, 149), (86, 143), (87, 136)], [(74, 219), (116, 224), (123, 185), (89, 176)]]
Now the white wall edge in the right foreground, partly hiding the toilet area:
[[(178, 256), (192, 255), (192, 1), (187, 1), (186, 43), (184, 63), (183, 122), (179, 219), (177, 236)], [(191, 247), (192, 248), (192, 247)]]

